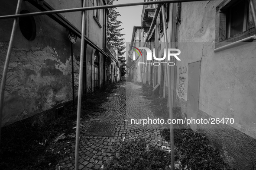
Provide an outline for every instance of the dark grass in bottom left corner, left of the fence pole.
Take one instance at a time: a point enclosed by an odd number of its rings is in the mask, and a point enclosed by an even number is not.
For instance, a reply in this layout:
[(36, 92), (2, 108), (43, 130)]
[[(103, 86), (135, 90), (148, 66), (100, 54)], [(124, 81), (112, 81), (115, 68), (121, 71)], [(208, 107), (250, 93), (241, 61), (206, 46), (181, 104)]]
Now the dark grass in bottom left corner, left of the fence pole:
[(71, 104), (65, 115), (55, 117), (55, 110), (18, 121), (2, 128), (0, 169), (25, 169), (35, 165), (45, 165), (58, 158), (45, 152), (49, 141), (61, 132), (68, 132), (75, 114)]

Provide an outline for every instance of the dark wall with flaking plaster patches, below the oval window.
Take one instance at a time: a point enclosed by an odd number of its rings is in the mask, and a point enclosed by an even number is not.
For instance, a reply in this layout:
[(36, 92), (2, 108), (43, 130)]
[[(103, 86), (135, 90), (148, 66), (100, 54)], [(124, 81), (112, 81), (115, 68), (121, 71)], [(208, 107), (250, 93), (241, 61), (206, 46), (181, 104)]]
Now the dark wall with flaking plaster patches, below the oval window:
[[(15, 5), (14, 5), (15, 4)], [(3, 2), (0, 15), (13, 14), (16, 2)], [(6, 10), (8, 9), (8, 11)], [(23, 1), (21, 10), (38, 10)], [(66, 29), (49, 16), (35, 16), (36, 38), (28, 41), (19, 26), (6, 77), (3, 126), (72, 100), (71, 45)], [(0, 25), (0, 74), (2, 76), (13, 20)], [(1, 22), (2, 22), (1, 21)], [(80, 40), (73, 45), (75, 91), (78, 90)]]

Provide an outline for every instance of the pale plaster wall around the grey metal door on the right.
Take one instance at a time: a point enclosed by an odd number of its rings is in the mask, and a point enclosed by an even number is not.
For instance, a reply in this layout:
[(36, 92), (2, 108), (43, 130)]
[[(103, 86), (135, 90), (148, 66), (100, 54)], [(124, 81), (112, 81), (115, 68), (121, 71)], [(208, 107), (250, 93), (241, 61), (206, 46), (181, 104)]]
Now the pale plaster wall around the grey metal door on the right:
[[(198, 126), (225, 161), (236, 169), (256, 164), (256, 44), (246, 43), (220, 52), (215, 48), (215, 7), (222, 1), (181, 4), (178, 31), (176, 106), (186, 113), (188, 63), (201, 60), (198, 118), (234, 118), (235, 123), (215, 127)], [(182, 73), (182, 74), (181, 74)], [(185, 78), (184, 95), (179, 95), (179, 76)], [(183, 83), (182, 83), (183, 84)], [(252, 161), (250, 160), (253, 160)]]

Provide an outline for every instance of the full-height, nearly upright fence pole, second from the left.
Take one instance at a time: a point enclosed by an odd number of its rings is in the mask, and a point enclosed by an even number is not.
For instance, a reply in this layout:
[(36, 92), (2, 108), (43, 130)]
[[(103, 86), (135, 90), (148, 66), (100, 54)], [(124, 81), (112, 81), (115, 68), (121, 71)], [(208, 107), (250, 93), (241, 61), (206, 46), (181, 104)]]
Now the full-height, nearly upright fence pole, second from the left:
[[(83, 7), (85, 6), (83, 0)], [(79, 139), (80, 139), (80, 116), (81, 116), (81, 98), (83, 86), (83, 63), (84, 63), (84, 33), (85, 33), (85, 11), (82, 16), (82, 30), (81, 30), (81, 52), (80, 52), (80, 68), (79, 68), (79, 86), (78, 86), (78, 109), (77, 109), (77, 122), (76, 122), (76, 139), (75, 139), (75, 170), (78, 170), (78, 152), (79, 152)]]

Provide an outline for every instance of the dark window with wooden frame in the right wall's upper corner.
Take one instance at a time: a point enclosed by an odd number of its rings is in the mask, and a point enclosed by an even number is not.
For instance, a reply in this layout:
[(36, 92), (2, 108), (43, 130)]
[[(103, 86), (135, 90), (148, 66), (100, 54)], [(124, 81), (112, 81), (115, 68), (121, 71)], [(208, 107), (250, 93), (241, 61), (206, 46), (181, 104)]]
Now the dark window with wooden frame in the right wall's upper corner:
[(224, 0), (220, 3), (216, 8), (216, 43), (239, 41), (254, 35), (250, 10), (247, 0)]

